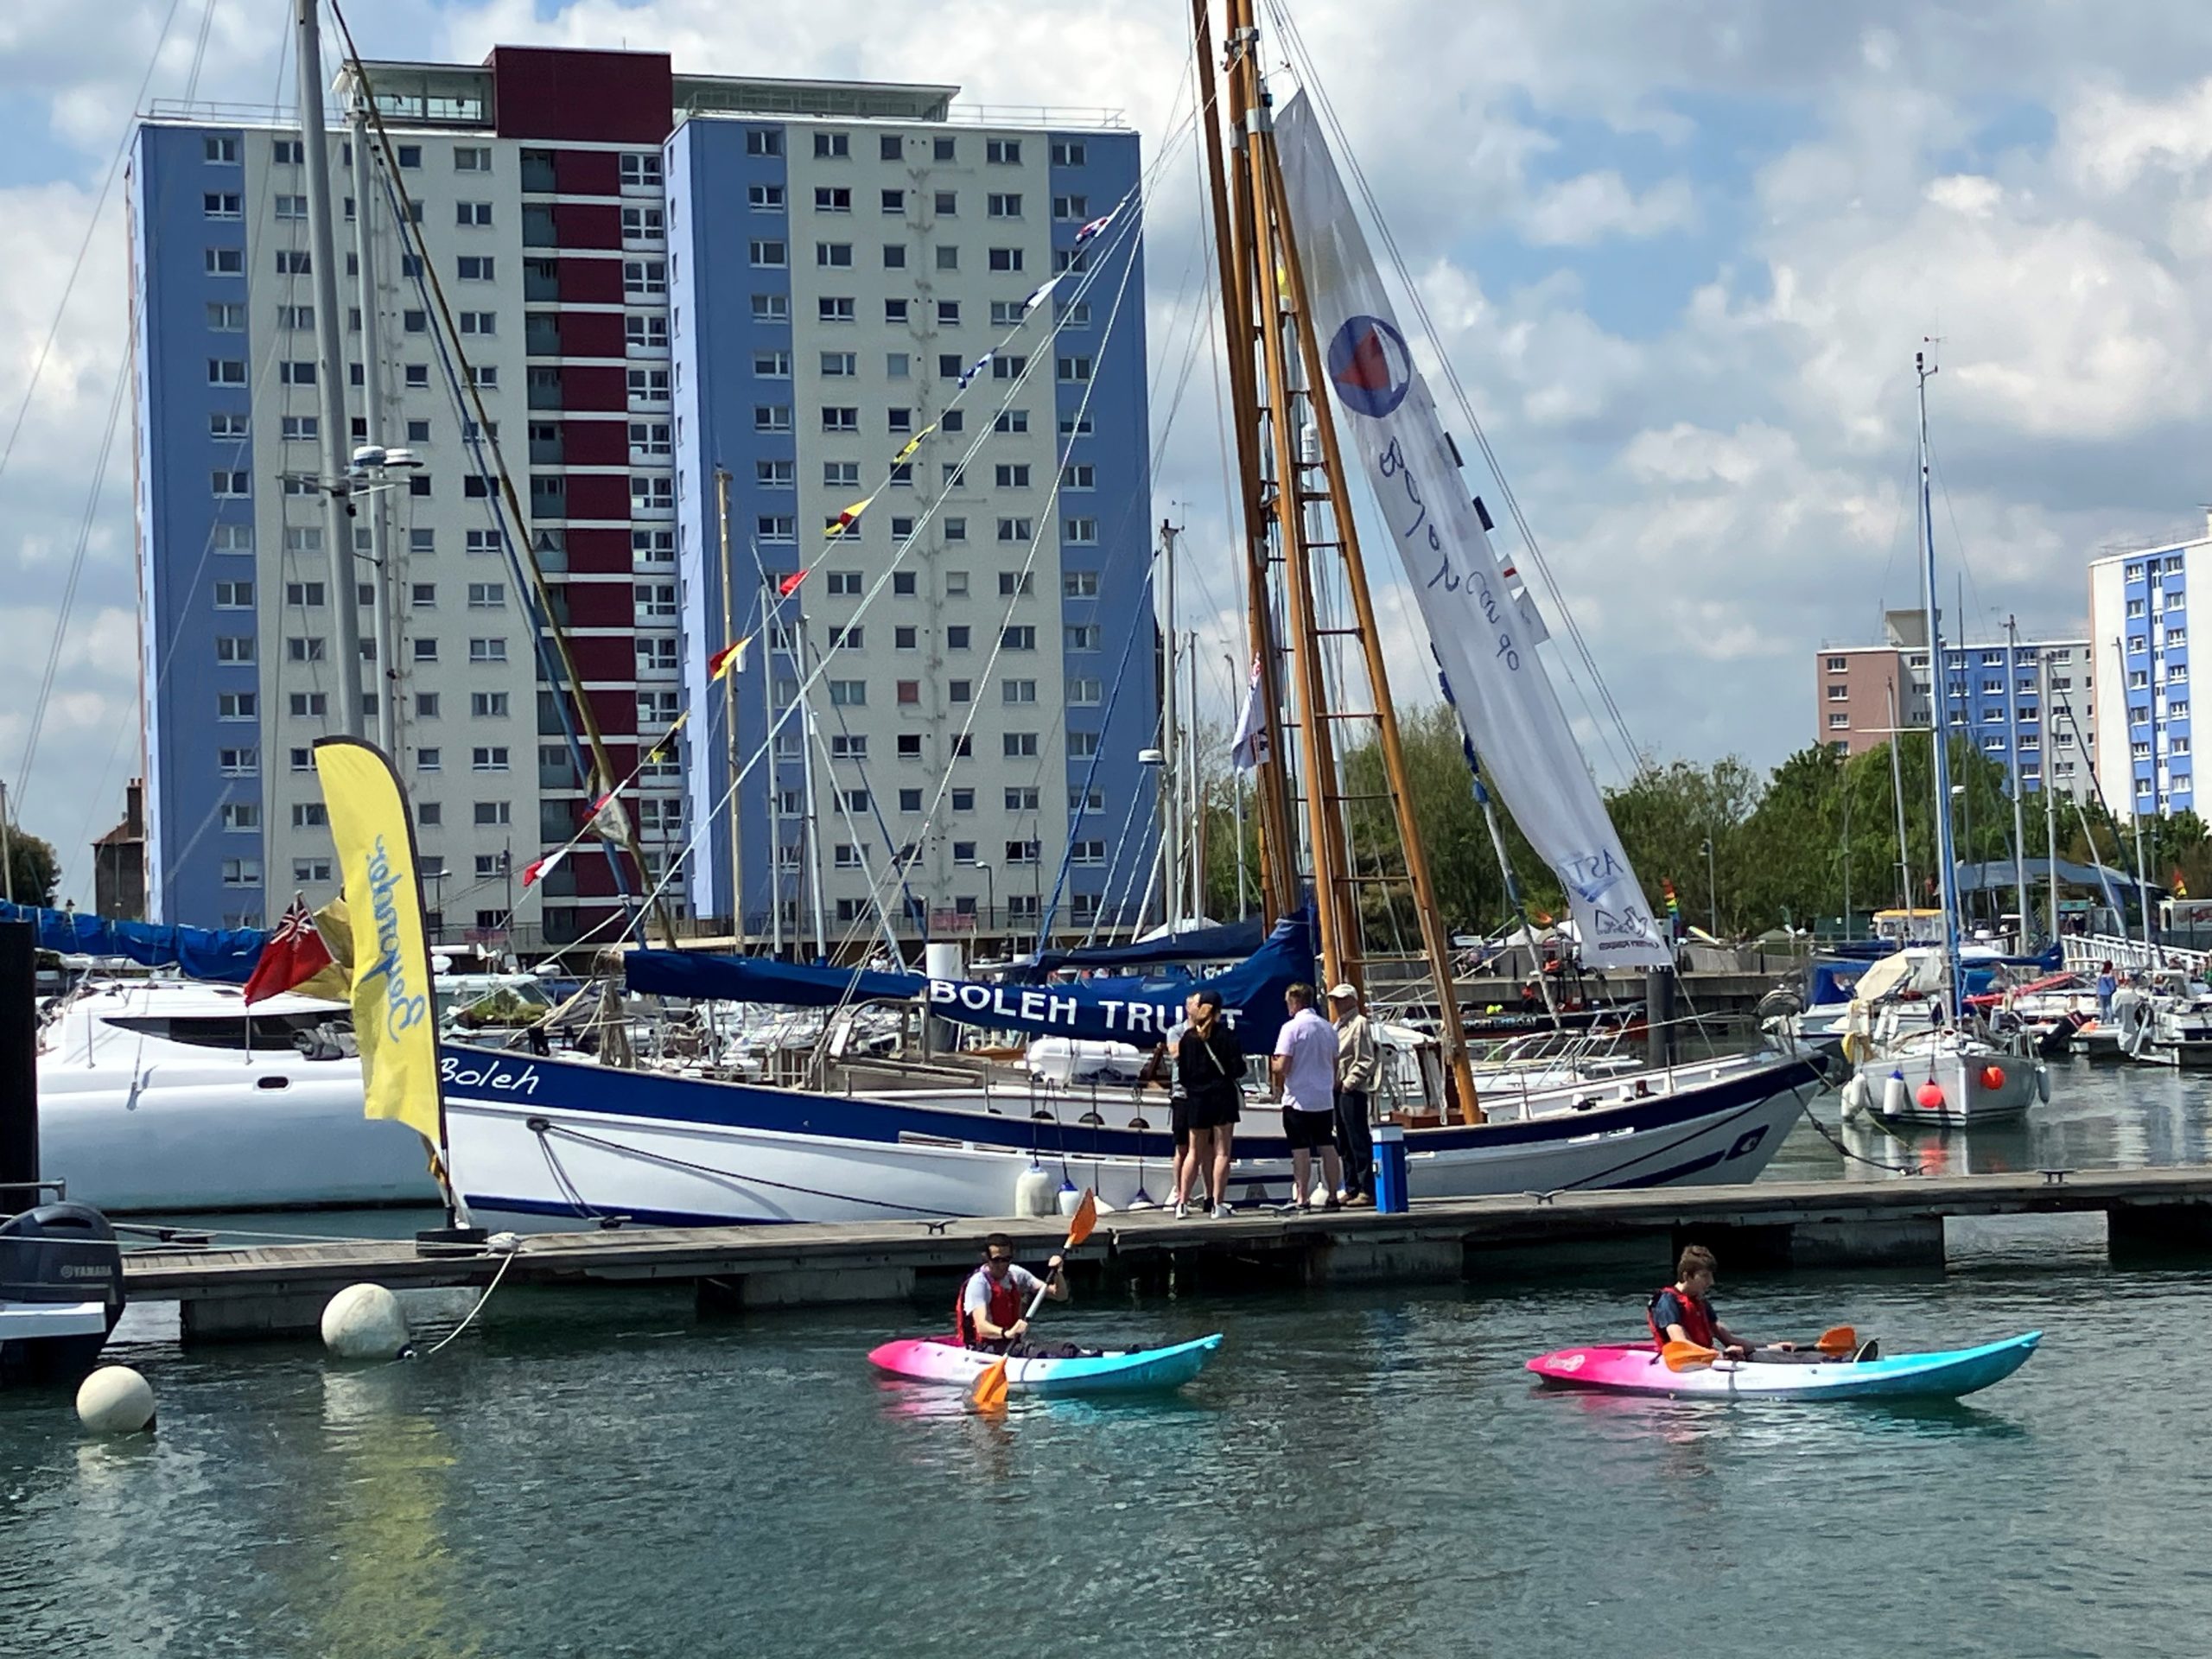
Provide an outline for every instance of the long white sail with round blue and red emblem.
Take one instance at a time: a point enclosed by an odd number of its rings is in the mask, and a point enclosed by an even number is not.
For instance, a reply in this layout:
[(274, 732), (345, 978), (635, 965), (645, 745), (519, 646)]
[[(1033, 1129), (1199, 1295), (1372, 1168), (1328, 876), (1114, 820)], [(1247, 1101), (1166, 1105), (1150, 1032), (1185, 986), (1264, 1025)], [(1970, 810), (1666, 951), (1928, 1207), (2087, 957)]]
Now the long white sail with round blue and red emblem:
[(1513, 821), (1566, 887), (1586, 958), (1597, 967), (1666, 967), (1672, 951), (1568, 730), (1528, 613), (1460, 482), (1436, 400), (1303, 93), (1276, 117), (1276, 146), (1336, 405), (1358, 436), (1460, 726)]

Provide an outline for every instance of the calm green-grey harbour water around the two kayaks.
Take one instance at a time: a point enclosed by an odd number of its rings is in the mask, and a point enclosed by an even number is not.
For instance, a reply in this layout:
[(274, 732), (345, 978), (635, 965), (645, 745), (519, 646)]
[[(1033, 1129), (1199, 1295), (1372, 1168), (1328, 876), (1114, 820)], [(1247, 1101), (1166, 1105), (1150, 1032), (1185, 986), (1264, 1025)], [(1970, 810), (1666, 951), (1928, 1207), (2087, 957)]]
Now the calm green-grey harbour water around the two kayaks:
[[(2059, 1084), (1975, 1166), (2212, 1144), (2212, 1082)], [(1838, 1166), (1807, 1133), (1776, 1175)], [(1528, 1354), (1632, 1336), (1661, 1261), (1055, 1310), (1077, 1340), (1228, 1345), (1179, 1398), (1004, 1420), (869, 1376), (936, 1307), (509, 1290), (436, 1358), (367, 1369), (184, 1352), (133, 1310), (157, 1436), (0, 1396), (0, 1652), (2201, 1652), (2208, 1398), (2161, 1356), (2201, 1343), (2212, 1281), (2039, 1225), (1949, 1272), (1723, 1274), (1767, 1336), (2048, 1332), (1947, 1407), (1528, 1387)]]

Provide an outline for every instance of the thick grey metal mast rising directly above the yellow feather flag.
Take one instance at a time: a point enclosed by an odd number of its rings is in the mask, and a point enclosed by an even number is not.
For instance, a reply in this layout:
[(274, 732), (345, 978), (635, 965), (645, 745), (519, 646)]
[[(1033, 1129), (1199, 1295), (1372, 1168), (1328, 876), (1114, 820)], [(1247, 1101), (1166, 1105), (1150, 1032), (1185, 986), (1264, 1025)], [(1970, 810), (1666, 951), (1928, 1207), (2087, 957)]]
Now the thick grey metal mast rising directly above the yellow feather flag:
[[(299, 58), (299, 142), (307, 186), (307, 283), (314, 294), (314, 385), (323, 407), (323, 555), (330, 560), (332, 655), (338, 659), (338, 708), (332, 730), (361, 737), (361, 597), (354, 584), (354, 524), (347, 484), (345, 336), (338, 332), (338, 250), (330, 223), (330, 135), (323, 131), (323, 33), (319, 0), (292, 2)], [(358, 212), (358, 208), (356, 208)], [(363, 327), (367, 319), (363, 316)], [(383, 664), (378, 664), (383, 668)]]

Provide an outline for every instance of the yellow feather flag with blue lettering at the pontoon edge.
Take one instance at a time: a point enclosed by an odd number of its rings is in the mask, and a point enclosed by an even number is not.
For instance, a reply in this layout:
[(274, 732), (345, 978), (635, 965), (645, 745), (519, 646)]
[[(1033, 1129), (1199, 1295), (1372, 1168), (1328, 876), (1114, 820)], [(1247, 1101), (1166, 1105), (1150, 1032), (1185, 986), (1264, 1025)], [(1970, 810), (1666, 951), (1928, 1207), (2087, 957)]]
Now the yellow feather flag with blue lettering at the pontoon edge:
[(383, 750), (354, 737), (319, 739), (314, 770), (354, 925), (354, 1040), (367, 1115), (394, 1117), (431, 1146), (445, 1146), (438, 1020), (407, 796)]

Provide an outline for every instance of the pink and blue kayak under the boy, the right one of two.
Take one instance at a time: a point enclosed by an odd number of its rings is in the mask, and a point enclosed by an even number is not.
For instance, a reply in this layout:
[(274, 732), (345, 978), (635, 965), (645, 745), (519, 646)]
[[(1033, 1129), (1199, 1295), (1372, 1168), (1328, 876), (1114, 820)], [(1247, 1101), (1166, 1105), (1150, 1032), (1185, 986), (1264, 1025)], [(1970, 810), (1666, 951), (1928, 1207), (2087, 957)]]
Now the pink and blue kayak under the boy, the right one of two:
[(1955, 1400), (2008, 1378), (2042, 1338), (2028, 1332), (1982, 1347), (1878, 1360), (1714, 1360), (1688, 1371), (1670, 1371), (1650, 1343), (1604, 1343), (1540, 1354), (1528, 1369), (1559, 1387), (1677, 1400)]

